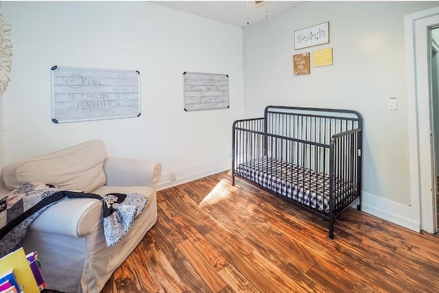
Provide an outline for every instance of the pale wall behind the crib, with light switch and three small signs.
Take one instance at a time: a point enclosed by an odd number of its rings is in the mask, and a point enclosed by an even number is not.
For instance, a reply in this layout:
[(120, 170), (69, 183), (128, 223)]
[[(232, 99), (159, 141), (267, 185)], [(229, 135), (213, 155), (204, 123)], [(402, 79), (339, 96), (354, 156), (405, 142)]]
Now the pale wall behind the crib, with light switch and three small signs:
[[(364, 117), (365, 202), (377, 215), (384, 209), (388, 217), (401, 213), (410, 221), (403, 16), (437, 5), (310, 1), (244, 27), (244, 115), (259, 117), (269, 104), (358, 110)], [(326, 21), (329, 44), (294, 50), (295, 30)], [(333, 47), (332, 66), (311, 63), (310, 75), (293, 75), (293, 54), (326, 47)], [(398, 110), (388, 110), (390, 97), (398, 99)]]

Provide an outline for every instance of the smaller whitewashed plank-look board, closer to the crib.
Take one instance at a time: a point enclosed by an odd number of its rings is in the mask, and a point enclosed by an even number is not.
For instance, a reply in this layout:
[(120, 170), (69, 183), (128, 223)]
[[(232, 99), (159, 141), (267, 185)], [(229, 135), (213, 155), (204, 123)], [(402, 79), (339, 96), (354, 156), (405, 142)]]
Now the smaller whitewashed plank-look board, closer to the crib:
[(228, 75), (183, 73), (185, 111), (224, 109), (228, 102)]

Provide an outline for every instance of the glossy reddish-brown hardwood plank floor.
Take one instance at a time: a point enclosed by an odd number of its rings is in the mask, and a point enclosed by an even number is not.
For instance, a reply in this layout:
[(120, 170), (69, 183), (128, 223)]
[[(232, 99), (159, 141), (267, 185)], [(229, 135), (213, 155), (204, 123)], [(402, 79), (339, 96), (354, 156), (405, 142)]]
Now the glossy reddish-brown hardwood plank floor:
[(439, 237), (335, 222), (222, 172), (158, 192), (158, 222), (102, 292), (439, 292)]

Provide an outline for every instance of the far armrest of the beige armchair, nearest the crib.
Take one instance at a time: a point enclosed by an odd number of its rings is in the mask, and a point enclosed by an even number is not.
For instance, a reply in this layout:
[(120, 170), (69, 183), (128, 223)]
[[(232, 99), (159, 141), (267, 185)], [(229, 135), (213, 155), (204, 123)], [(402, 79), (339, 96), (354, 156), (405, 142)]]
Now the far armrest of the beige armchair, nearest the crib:
[(157, 189), (162, 164), (154, 161), (107, 157), (104, 172), (108, 186), (148, 186)]

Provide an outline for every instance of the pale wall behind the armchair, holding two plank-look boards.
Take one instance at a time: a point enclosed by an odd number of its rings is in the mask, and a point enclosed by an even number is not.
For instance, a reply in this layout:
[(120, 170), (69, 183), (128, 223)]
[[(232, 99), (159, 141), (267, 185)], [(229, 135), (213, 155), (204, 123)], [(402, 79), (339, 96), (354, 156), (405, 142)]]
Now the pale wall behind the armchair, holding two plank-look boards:
[[(3, 2), (12, 81), (3, 96), (5, 163), (102, 139), (112, 156), (163, 163), (162, 188), (230, 168), (242, 117), (242, 32), (145, 1)], [(54, 124), (51, 67), (141, 73), (139, 118)], [(185, 112), (184, 71), (227, 73), (230, 108)], [(169, 172), (177, 181), (169, 183)]]

